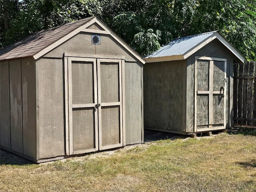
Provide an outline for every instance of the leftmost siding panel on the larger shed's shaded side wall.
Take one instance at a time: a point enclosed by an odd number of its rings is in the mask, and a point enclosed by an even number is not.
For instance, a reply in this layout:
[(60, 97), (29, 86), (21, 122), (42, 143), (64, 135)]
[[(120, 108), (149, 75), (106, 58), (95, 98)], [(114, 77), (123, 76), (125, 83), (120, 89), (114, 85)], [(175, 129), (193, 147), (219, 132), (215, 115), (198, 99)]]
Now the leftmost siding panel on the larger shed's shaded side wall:
[(1, 146), (11, 149), (9, 61), (0, 63), (0, 139)]

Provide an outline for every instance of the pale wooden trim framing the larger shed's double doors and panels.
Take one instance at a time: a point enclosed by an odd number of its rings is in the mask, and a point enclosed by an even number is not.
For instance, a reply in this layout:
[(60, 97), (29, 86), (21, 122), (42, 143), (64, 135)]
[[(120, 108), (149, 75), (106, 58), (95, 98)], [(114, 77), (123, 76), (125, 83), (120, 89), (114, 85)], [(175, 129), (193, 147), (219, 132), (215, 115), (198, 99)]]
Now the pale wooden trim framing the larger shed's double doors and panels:
[[(120, 144), (114, 144), (110, 146), (101, 146), (101, 140), (100, 140), (100, 133), (101, 133), (101, 124), (100, 118), (101, 118), (101, 107), (107, 106), (105, 103), (102, 103), (95, 114), (95, 138), (98, 139), (95, 141), (95, 149), (93, 150), (81, 150), (77, 152), (73, 152), (73, 133), (72, 133), (72, 70), (71, 64), (72, 61), (85, 61), (85, 62), (93, 62), (94, 63), (94, 98), (95, 103), (100, 103), (100, 90), (98, 90), (99, 84), (100, 84), (100, 74), (98, 74), (98, 71), (100, 71), (100, 62), (118, 62), (119, 68), (119, 84), (120, 84), (120, 98), (119, 102), (113, 102), (111, 105), (115, 106), (116, 104), (120, 104)], [(66, 155), (72, 155), (72, 154), (82, 154), (82, 153), (88, 153), (88, 152), (94, 152), (97, 150), (105, 150), (108, 148), (116, 148), (120, 146), (125, 146), (126, 142), (126, 134), (125, 134), (125, 78), (124, 78), (124, 71), (125, 71), (125, 62), (124, 59), (108, 59), (108, 58), (84, 58), (84, 57), (68, 57), (64, 56), (64, 95), (65, 95), (65, 132), (66, 132)], [(70, 91), (71, 90), (71, 91)], [(96, 91), (97, 90), (97, 91)], [(94, 105), (94, 104), (93, 104)], [(75, 107), (84, 107), (84, 106), (78, 106), (77, 104)], [(92, 107), (92, 106), (87, 106)]]

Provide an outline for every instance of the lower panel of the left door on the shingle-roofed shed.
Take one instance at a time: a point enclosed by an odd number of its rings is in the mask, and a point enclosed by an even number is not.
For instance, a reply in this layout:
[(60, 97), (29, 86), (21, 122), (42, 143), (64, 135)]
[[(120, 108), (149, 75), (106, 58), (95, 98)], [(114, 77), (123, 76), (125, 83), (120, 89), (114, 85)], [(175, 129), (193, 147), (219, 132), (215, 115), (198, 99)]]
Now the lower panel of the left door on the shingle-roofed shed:
[(95, 148), (94, 108), (73, 109), (73, 151)]

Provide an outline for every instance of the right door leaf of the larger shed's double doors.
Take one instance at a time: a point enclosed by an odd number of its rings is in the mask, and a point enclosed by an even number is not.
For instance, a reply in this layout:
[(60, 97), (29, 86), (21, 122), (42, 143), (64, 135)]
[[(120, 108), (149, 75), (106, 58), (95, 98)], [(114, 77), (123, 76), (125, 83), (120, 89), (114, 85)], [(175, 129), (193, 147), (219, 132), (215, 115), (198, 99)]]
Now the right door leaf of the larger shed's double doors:
[[(121, 60), (98, 59), (100, 150), (123, 145)], [(100, 73), (99, 73), (100, 72)]]

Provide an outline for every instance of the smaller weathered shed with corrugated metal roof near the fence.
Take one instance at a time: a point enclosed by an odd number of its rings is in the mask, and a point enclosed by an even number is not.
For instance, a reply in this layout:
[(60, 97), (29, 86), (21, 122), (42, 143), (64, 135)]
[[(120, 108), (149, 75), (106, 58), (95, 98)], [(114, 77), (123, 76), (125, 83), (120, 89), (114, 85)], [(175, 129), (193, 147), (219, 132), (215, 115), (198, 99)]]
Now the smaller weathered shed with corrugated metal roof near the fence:
[(244, 57), (220, 32), (174, 39), (145, 60), (145, 128), (194, 134), (232, 127), (233, 64)]

